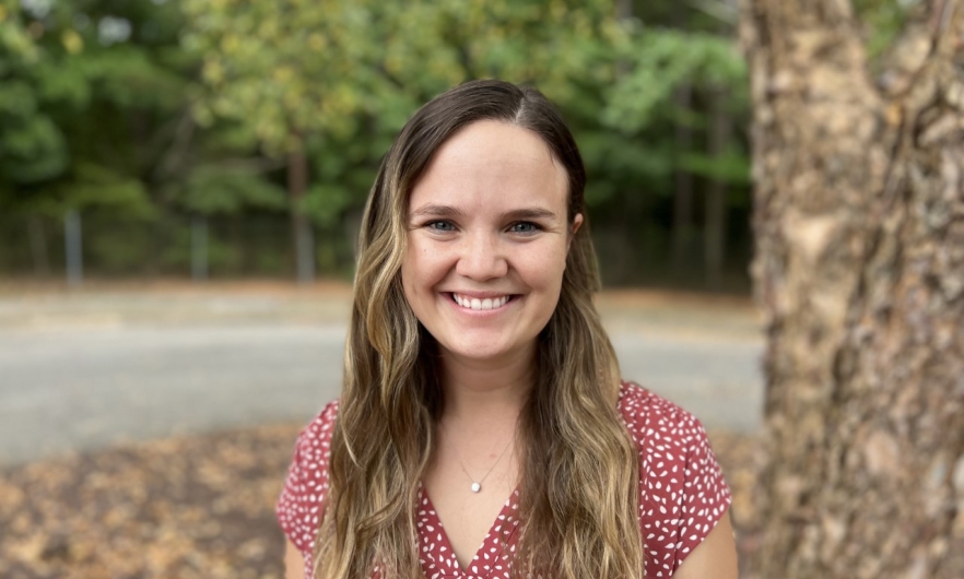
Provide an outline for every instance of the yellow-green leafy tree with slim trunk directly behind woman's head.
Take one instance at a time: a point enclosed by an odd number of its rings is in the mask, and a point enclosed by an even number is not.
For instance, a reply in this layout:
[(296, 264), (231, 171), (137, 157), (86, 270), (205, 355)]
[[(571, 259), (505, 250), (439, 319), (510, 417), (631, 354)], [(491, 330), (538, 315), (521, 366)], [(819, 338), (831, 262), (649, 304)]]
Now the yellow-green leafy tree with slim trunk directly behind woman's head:
[(601, 43), (620, 34), (604, 2), (191, 0), (185, 10), (186, 46), (203, 55), (208, 88), (198, 118), (245, 122), (268, 154), (287, 157), (301, 280), (314, 262), (308, 212), (325, 222), (367, 189), (309, 188), (309, 147), (371, 143), (353, 154), (371, 172), (420, 103), (470, 78), (538, 81), (565, 102)]

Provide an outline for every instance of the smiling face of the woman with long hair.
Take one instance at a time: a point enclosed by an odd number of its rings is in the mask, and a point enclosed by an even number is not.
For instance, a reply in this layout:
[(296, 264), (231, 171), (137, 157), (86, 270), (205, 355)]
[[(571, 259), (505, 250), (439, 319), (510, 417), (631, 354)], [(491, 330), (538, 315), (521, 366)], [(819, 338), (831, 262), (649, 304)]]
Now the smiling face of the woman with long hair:
[(533, 352), (562, 286), (568, 180), (542, 139), (478, 121), (436, 152), (408, 208), (405, 298), (445, 355)]

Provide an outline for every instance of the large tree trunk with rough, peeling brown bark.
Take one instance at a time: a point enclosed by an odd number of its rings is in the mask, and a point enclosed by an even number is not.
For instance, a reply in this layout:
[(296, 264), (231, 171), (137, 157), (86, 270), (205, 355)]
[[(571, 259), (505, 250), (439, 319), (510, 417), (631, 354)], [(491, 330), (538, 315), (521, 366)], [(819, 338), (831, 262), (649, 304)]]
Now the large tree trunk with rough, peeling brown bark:
[(847, 0), (743, 0), (766, 578), (964, 577), (964, 2), (874, 82)]

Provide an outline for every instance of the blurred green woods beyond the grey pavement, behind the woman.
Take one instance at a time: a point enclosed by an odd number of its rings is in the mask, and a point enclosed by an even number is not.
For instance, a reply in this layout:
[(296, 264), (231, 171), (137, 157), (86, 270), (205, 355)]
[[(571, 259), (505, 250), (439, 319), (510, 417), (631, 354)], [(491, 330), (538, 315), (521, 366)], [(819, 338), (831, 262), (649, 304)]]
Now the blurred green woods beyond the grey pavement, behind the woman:
[(408, 117), (502, 78), (572, 125), (610, 285), (745, 293), (736, 23), (718, 0), (2, 0), (0, 275), (350, 277)]

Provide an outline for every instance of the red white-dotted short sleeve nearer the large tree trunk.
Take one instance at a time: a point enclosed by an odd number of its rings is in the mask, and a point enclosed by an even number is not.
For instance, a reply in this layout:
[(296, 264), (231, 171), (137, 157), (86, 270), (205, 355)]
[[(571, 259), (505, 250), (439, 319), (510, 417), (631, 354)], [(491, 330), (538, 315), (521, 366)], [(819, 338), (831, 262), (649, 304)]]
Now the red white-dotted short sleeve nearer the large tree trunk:
[(731, 503), (706, 430), (680, 406), (624, 385), (620, 410), (639, 450), (646, 577), (672, 577)]

